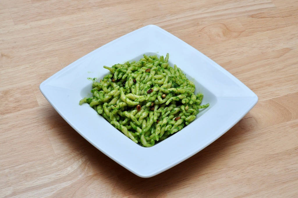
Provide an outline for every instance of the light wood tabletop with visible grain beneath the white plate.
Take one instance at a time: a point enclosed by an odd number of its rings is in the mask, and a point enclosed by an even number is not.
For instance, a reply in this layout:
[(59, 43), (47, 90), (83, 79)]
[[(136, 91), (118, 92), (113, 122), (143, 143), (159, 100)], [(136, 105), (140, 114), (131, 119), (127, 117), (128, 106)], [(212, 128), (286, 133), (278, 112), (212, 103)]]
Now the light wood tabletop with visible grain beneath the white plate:
[[(75, 132), (39, 85), (148, 24), (259, 102), (206, 149), (144, 179)], [(297, 44), (294, 0), (0, 0), (0, 197), (298, 197)]]

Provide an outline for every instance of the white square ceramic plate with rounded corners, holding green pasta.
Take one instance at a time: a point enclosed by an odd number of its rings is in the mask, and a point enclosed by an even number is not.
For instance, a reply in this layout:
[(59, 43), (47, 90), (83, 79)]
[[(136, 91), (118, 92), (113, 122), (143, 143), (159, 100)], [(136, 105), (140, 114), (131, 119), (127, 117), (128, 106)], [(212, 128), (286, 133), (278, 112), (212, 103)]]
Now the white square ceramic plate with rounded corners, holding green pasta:
[[(92, 82), (103, 78), (112, 66), (138, 61), (143, 54), (170, 54), (202, 92), (202, 104), (210, 106), (177, 132), (150, 148), (142, 147), (115, 129), (87, 103)], [(237, 78), (184, 41), (155, 25), (128, 33), (66, 66), (40, 85), (54, 109), (80, 135), (101, 152), (139, 177), (152, 177), (198, 153), (234, 126), (257, 103), (254, 94)]]

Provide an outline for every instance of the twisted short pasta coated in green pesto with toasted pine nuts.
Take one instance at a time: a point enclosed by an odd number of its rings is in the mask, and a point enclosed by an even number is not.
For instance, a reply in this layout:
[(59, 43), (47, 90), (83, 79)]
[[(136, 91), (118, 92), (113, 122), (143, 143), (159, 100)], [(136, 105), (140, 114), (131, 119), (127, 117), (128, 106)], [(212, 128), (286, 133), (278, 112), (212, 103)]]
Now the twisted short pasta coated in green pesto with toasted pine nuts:
[(153, 146), (191, 123), (203, 94), (166, 57), (147, 56), (139, 61), (103, 66), (111, 74), (92, 83), (93, 97), (83, 98), (100, 115), (135, 143)]

